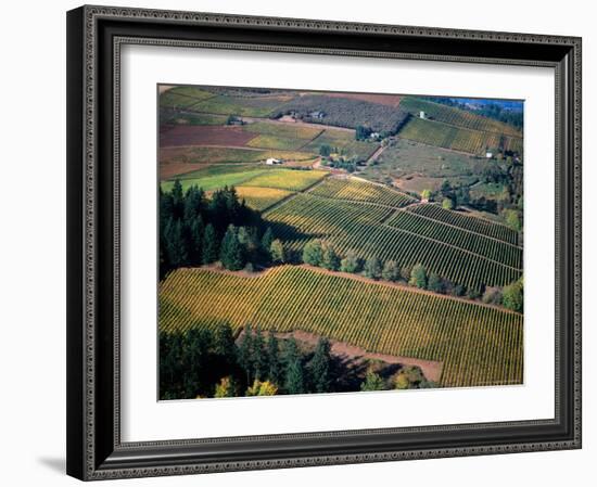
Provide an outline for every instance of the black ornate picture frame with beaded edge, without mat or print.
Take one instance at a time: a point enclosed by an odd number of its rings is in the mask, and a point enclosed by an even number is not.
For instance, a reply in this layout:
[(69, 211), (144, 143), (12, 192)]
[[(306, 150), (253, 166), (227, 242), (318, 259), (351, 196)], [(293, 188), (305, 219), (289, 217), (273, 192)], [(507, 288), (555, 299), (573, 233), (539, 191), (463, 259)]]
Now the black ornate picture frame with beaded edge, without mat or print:
[[(556, 73), (552, 420), (120, 441), (119, 48), (549, 66)], [(581, 39), (81, 7), (67, 13), (67, 473), (80, 479), (581, 448)]]

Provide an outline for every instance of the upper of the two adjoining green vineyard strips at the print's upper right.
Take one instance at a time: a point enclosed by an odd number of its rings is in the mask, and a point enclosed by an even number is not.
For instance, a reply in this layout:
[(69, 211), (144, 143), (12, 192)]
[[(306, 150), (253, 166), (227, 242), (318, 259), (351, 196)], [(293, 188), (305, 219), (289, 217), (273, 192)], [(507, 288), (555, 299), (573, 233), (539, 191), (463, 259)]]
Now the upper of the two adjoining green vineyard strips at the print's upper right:
[(493, 118), (483, 117), (465, 110), (455, 108), (453, 106), (442, 105), (427, 100), (421, 100), (414, 97), (405, 97), (401, 101), (401, 108), (409, 112), (415, 116), (419, 116), (420, 112), (424, 112), (425, 117), (433, 120), (442, 121), (457, 127), (479, 130), (482, 132), (493, 132), (504, 136), (522, 137), (520, 130), (511, 125), (504, 124)]

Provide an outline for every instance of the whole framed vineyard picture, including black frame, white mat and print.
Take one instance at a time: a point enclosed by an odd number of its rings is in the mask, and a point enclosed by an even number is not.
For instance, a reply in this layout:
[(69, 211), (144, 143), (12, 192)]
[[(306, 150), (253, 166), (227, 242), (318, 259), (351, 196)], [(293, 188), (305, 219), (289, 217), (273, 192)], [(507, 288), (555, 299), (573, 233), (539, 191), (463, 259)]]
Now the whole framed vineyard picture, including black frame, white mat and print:
[(581, 39), (67, 13), (67, 472), (581, 447)]

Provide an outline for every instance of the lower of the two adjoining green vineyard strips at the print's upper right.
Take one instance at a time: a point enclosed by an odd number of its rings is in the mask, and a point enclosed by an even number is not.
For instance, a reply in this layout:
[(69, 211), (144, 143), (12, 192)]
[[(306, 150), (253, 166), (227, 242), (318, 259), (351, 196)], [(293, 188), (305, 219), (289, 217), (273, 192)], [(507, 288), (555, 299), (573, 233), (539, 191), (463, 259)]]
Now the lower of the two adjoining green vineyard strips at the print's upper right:
[(522, 152), (522, 139), (482, 132), (439, 121), (411, 117), (398, 136), (403, 139), (469, 154), (484, 154), (486, 149), (504, 149)]

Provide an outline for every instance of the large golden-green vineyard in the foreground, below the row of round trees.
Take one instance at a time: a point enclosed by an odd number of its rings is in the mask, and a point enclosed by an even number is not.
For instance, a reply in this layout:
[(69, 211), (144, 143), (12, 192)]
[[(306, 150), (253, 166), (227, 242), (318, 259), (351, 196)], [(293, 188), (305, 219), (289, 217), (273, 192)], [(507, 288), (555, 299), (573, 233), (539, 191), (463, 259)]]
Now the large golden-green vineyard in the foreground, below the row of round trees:
[(237, 331), (246, 323), (304, 330), (374, 353), (441, 361), (446, 387), (523, 379), (522, 316), (498, 308), (296, 266), (254, 278), (178, 269), (161, 284), (161, 330), (223, 322)]

